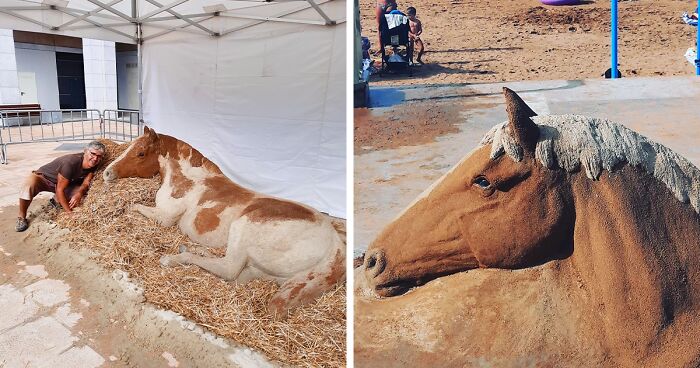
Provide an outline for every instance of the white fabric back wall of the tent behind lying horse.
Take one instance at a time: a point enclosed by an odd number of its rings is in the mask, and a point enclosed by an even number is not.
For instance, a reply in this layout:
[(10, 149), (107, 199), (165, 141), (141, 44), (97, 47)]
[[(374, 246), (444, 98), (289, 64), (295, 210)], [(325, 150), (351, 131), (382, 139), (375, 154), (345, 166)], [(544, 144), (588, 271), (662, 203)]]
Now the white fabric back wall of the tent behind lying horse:
[(345, 217), (345, 27), (268, 22), (143, 48), (148, 125), (234, 181)]

